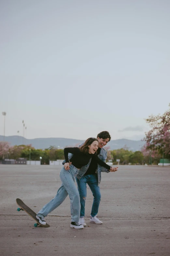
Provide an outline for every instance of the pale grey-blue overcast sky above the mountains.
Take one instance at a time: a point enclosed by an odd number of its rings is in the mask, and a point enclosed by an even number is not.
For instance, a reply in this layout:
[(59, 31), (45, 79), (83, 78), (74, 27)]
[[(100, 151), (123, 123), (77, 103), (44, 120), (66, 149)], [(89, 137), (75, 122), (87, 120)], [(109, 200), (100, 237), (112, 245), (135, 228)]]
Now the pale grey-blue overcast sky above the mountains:
[(169, 13), (169, 0), (1, 0), (6, 135), (24, 120), (27, 138), (142, 138), (170, 103)]

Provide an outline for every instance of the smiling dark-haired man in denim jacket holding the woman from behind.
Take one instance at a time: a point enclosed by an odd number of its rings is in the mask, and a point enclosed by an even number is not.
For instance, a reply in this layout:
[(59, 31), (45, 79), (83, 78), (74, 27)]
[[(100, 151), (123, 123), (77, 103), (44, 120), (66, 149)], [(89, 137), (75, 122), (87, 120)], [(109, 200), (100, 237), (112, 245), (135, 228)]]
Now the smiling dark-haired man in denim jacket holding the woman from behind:
[[(107, 151), (103, 147), (106, 146), (107, 143), (111, 140), (110, 134), (107, 131), (103, 131), (97, 135), (97, 140), (99, 142), (97, 155), (102, 161), (106, 162)], [(72, 154), (69, 153), (68, 157), (69, 159), (71, 159)], [(112, 172), (116, 172), (117, 170), (118, 170), (118, 167), (114, 168)], [(80, 195), (80, 205), (81, 205), (79, 223), (81, 223), (81, 225), (83, 226), (86, 226), (86, 223), (84, 221), (84, 216), (85, 216), (85, 201), (86, 201), (86, 195), (87, 195), (87, 184), (89, 185), (94, 197), (90, 222), (95, 224), (103, 223), (97, 218), (97, 213), (98, 213), (99, 204), (101, 200), (101, 193), (100, 193), (100, 187), (99, 187), (101, 182), (101, 172), (109, 173), (110, 171), (98, 165), (95, 160), (90, 160), (88, 165), (83, 166), (79, 170), (78, 175), (76, 177), (78, 192)]]

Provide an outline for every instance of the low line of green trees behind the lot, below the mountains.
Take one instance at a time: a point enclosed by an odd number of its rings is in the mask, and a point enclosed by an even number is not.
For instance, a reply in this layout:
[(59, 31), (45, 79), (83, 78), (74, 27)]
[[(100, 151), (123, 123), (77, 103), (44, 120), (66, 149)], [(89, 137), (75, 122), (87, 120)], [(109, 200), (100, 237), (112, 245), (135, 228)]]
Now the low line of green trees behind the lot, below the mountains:
[[(49, 164), (49, 161), (64, 159), (64, 149), (58, 149), (55, 146), (50, 146), (47, 149), (35, 149), (31, 145), (9, 146), (8, 142), (0, 142), (0, 160), (3, 158), (15, 159), (26, 158), (27, 160), (40, 160), (41, 164)], [(111, 161), (117, 164), (117, 159), (120, 159), (120, 164), (149, 164), (150, 157), (152, 163), (158, 164), (160, 157), (152, 157), (150, 153), (143, 154), (141, 151), (129, 151), (126, 147), (117, 150), (108, 150), (106, 161)]]

